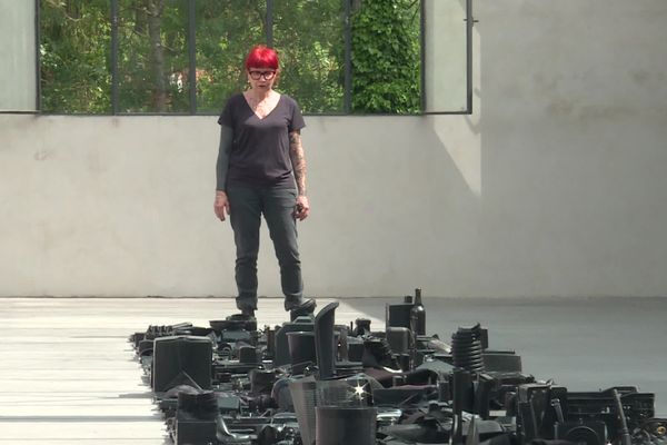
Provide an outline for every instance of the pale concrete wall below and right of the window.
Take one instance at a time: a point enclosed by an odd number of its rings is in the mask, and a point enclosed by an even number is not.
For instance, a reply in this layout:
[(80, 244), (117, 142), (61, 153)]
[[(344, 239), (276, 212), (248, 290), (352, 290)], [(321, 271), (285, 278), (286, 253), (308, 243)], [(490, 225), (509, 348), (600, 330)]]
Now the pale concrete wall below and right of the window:
[[(667, 295), (667, 2), (475, 11), (472, 116), (307, 119), (307, 291)], [(233, 295), (216, 139), (212, 117), (0, 116), (0, 295)]]

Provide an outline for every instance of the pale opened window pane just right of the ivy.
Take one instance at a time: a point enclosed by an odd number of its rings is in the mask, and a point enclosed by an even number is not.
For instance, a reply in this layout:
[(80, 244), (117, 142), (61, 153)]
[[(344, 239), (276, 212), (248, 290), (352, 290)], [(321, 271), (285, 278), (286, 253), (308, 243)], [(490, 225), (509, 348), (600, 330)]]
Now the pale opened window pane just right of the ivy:
[(466, 111), (466, 1), (424, 0), (426, 109)]

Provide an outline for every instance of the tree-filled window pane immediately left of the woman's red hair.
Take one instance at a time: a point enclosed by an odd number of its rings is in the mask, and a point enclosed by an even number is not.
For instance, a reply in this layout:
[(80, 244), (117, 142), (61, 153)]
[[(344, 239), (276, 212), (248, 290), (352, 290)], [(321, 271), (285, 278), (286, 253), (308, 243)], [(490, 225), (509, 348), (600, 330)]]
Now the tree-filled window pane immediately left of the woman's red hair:
[(246, 56), (266, 40), (266, 0), (197, 1), (197, 110), (219, 113), (246, 88)]

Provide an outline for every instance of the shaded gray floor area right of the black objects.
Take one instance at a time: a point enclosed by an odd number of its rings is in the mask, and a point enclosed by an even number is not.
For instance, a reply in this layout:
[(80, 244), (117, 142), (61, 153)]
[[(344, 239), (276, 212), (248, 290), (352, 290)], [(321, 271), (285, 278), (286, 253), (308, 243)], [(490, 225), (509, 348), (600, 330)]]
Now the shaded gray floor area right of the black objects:
[[(396, 299), (354, 299), (378, 318)], [(425, 298), (427, 333), (447, 340), (480, 323), (489, 347), (512, 349), (524, 372), (571, 390), (614, 385), (656, 394), (667, 416), (667, 298)]]

